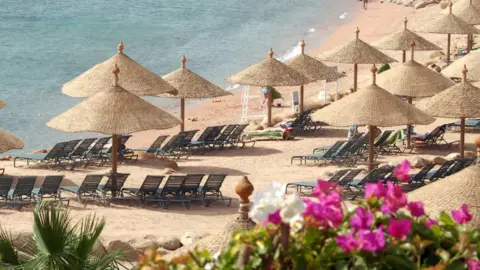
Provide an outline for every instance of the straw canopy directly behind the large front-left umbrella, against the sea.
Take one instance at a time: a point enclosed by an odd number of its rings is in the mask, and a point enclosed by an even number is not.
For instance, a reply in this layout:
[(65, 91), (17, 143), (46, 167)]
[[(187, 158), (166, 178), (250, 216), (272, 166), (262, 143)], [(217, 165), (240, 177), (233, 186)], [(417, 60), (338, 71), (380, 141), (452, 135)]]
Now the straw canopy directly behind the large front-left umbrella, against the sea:
[(120, 42), (118, 53), (65, 83), (62, 92), (67, 96), (83, 98), (101, 92), (111, 86), (112, 66), (115, 64), (125, 73), (120, 78), (119, 85), (137, 96), (156, 96), (175, 91), (160, 76), (124, 54), (123, 48), (123, 43)]

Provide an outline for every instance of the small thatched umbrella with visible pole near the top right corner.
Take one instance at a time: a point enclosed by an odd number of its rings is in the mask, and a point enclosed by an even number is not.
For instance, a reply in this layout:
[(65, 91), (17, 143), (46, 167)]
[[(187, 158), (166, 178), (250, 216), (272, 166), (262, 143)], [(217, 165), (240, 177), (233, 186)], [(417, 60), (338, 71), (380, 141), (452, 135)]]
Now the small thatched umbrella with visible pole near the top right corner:
[(450, 41), (452, 34), (480, 34), (480, 31), (466, 23), (459, 17), (452, 14), (452, 2), (450, 2), (450, 13), (442, 15), (418, 28), (417, 32), (447, 34), (447, 64), (450, 63)]

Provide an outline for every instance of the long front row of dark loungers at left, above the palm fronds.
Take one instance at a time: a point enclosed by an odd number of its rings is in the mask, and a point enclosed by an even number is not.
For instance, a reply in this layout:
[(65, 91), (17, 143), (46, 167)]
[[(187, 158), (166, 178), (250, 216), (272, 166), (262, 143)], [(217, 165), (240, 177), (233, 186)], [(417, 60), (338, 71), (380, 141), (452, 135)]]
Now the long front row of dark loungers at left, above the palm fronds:
[[(205, 183), (201, 185), (204, 174), (188, 175), (147, 175), (139, 188), (124, 187), (129, 174), (117, 174), (117, 197), (119, 199), (138, 200), (139, 203), (157, 202), (167, 208), (169, 204), (180, 202), (186, 208), (192, 201), (201, 201), (209, 206), (215, 201), (226, 201), (228, 205), (231, 198), (224, 197), (220, 188), (227, 177), (225, 174), (210, 174)], [(13, 187), (13, 176), (0, 176), (0, 203), (21, 208), (24, 205), (41, 202), (51, 198), (61, 203), (69, 200), (61, 196), (61, 191), (71, 192), (85, 205), (89, 201), (98, 201), (109, 204), (112, 199), (111, 177), (105, 184), (101, 184), (105, 175), (87, 175), (80, 186), (61, 186), (63, 175), (46, 176), (40, 188), (34, 188), (37, 176), (18, 177)], [(162, 187), (160, 187), (164, 183)]]

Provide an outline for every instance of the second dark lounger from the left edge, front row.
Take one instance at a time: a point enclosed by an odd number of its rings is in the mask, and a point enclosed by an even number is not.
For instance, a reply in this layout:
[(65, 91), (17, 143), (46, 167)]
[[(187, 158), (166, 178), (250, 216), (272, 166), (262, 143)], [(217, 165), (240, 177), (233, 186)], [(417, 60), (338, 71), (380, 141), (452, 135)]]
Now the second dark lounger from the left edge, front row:
[(22, 206), (32, 204), (35, 202), (35, 197), (32, 194), (36, 176), (20, 176), (17, 184), (8, 194), (7, 203), (9, 206), (20, 209)]

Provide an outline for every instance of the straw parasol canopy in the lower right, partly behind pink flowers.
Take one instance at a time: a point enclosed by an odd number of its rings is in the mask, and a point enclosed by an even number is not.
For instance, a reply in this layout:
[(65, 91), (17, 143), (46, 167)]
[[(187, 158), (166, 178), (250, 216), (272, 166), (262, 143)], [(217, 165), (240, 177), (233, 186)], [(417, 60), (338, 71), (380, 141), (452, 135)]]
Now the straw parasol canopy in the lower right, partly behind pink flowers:
[(409, 201), (422, 201), (425, 211), (432, 218), (439, 218), (442, 211), (450, 213), (467, 204), (472, 214), (470, 224), (480, 222), (480, 167), (464, 170), (421, 187), (407, 194)]

